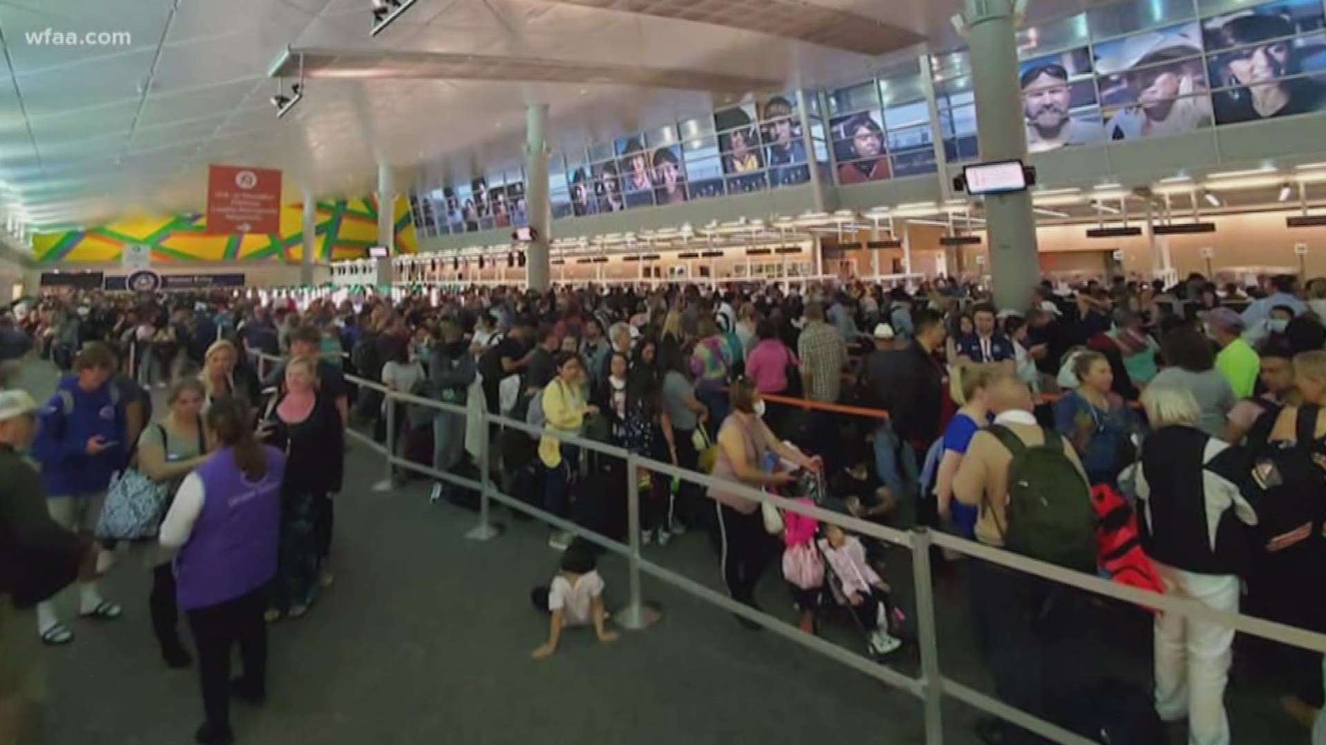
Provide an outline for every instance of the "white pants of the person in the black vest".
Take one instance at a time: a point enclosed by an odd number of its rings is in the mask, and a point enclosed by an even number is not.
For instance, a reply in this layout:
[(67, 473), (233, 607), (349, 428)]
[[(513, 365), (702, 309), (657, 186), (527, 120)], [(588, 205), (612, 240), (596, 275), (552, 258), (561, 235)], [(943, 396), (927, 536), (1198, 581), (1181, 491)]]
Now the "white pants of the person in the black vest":
[[(1193, 574), (1160, 562), (1156, 573), (1167, 595), (1238, 611), (1238, 578)], [(1233, 659), (1235, 630), (1160, 614), (1155, 620), (1156, 713), (1166, 721), (1188, 717), (1188, 745), (1229, 745), (1225, 683)]]

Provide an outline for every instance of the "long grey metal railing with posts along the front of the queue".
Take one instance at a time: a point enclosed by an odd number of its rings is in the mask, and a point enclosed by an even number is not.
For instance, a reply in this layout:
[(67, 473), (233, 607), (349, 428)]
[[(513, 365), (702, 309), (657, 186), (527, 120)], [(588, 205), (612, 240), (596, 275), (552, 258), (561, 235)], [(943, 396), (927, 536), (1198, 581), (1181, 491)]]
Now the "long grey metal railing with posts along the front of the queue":
[[(260, 369), (264, 362), (260, 357)], [(272, 361), (277, 358), (267, 358)], [(436, 408), (443, 414), (451, 414), (455, 416), (468, 416), (469, 410), (464, 406), (450, 404), (438, 402), (434, 399), (420, 398), (410, 394), (402, 394), (392, 391), (381, 383), (374, 383), (355, 375), (346, 375), (346, 380), (351, 384), (359, 386), (361, 390), (373, 390), (381, 392), (387, 402), (402, 402), (408, 404), (424, 406), (430, 408)], [(936, 616), (935, 616), (935, 594), (934, 594), (934, 575), (931, 571), (931, 547), (939, 546), (948, 549), (969, 557), (972, 559), (988, 561), (1001, 567), (1014, 570), (1022, 574), (1033, 575), (1044, 581), (1054, 582), (1057, 585), (1063, 585), (1067, 587), (1074, 587), (1081, 591), (1091, 593), (1095, 595), (1102, 595), (1106, 598), (1113, 598), (1116, 601), (1123, 601), (1143, 608), (1150, 608), (1156, 612), (1174, 612), (1183, 615), (1189, 619), (1203, 620), (1208, 623), (1217, 623), (1268, 639), (1272, 642), (1278, 642), (1282, 644), (1289, 644), (1293, 647), (1299, 647), (1317, 652), (1326, 652), (1326, 634), (1318, 634), (1314, 631), (1307, 631), (1303, 628), (1297, 628), (1286, 626), (1282, 623), (1265, 620), (1261, 618), (1248, 616), (1237, 612), (1215, 610), (1207, 604), (1197, 601), (1181, 599), (1168, 595), (1162, 595), (1146, 590), (1139, 590), (1135, 587), (1118, 585), (1099, 577), (1085, 574), (1081, 571), (1074, 571), (1063, 569), (1052, 563), (1037, 561), (1033, 558), (1024, 557), (1021, 554), (1014, 554), (1002, 549), (987, 546), (975, 541), (968, 541), (951, 536), (947, 533), (939, 533), (930, 530), (927, 528), (916, 528), (912, 530), (899, 530), (894, 528), (887, 528), (865, 520), (859, 520), (847, 514), (838, 512), (831, 512), (819, 506), (797, 502), (777, 494), (765, 493), (743, 484), (737, 484), (728, 480), (715, 479), (703, 473), (696, 473), (693, 471), (687, 471), (684, 468), (678, 468), (675, 465), (651, 460), (647, 457), (638, 456), (626, 449), (607, 445), (601, 441), (587, 440), (579, 436), (566, 435), (564, 432), (542, 430), (538, 427), (529, 426), (524, 422), (517, 422), (505, 416), (495, 416), (481, 408), (481, 419), (484, 422), (484, 437), (480, 443), (479, 452), (479, 472), (480, 479), (476, 481), (473, 479), (467, 479), (457, 476), (455, 473), (442, 472), (435, 468), (420, 465), (395, 455), (395, 406), (386, 406), (387, 418), (387, 444), (382, 445), (374, 441), (371, 437), (355, 431), (347, 430), (347, 435), (355, 441), (369, 447), (374, 452), (383, 455), (386, 459), (383, 480), (379, 481), (374, 489), (375, 490), (390, 490), (392, 488), (392, 476), (396, 468), (412, 471), (453, 484), (457, 487), (473, 489), (479, 493), (479, 525), (467, 533), (467, 538), (477, 541), (488, 541), (496, 538), (501, 534), (499, 526), (493, 525), (491, 521), (491, 502), (497, 501), (507, 508), (534, 517), (542, 522), (546, 522), (557, 529), (568, 530), (574, 536), (590, 541), (603, 549), (613, 551), (618, 555), (623, 555), (627, 559), (627, 573), (629, 573), (629, 587), (627, 587), (627, 604), (623, 610), (614, 612), (613, 619), (618, 626), (627, 630), (643, 630), (651, 626), (662, 616), (662, 611), (644, 602), (643, 587), (642, 587), (642, 574), (648, 574), (655, 579), (659, 579), (667, 585), (671, 585), (684, 593), (688, 593), (700, 601), (713, 604), (727, 612), (739, 615), (744, 619), (752, 620), (761, 627), (770, 630), (780, 636), (788, 639), (789, 642), (806, 647), (818, 652), (819, 655), (853, 668), (866, 676), (870, 676), (880, 683), (904, 691), (922, 703), (924, 726), (926, 726), (926, 745), (941, 745), (944, 741), (943, 730), (943, 712), (944, 712), (944, 697), (952, 697), (961, 701), (975, 709), (979, 709), (987, 715), (996, 716), (1010, 724), (1028, 729), (1041, 737), (1045, 737), (1053, 742), (1059, 742), (1062, 745), (1095, 745), (1093, 740), (1085, 738), (1082, 736), (1074, 734), (1053, 722), (1049, 722), (1038, 716), (1033, 716), (1025, 711), (1017, 709), (1009, 704), (1005, 704), (987, 693), (983, 693), (969, 685), (945, 677), (943, 668), (940, 667), (939, 659), (939, 643), (936, 632)], [(504, 494), (492, 483), (492, 461), (491, 449), (493, 441), (493, 427), (501, 427), (508, 430), (516, 430), (526, 432), (530, 436), (553, 436), (558, 441), (597, 453), (602, 453), (610, 457), (619, 457), (626, 461), (626, 480), (627, 480), (627, 541), (622, 544), (606, 536), (594, 533), (560, 516), (552, 514), (544, 509), (536, 508), (522, 500)], [(747, 604), (739, 603), (732, 598), (719, 593), (711, 587), (707, 587), (688, 577), (684, 577), (676, 571), (672, 571), (659, 563), (648, 561), (640, 551), (640, 494), (639, 483), (636, 480), (636, 472), (639, 468), (660, 473), (663, 476), (679, 479), (682, 481), (688, 481), (705, 488), (719, 488), (729, 494), (736, 494), (743, 498), (748, 498), (761, 504), (772, 504), (773, 506), (785, 510), (794, 512), (810, 518), (814, 518), (823, 524), (831, 524), (842, 528), (843, 530), (867, 536), (884, 541), (887, 544), (902, 546), (908, 549), (911, 553), (912, 562), (912, 578), (915, 582), (915, 603), (916, 603), (916, 624), (918, 624), (918, 647), (920, 651), (920, 676), (911, 677), (886, 667), (873, 659), (867, 659), (853, 654), (851, 651), (834, 644), (829, 640), (821, 639), (819, 636), (806, 634), (800, 628), (786, 623), (784, 619), (757, 611)]]

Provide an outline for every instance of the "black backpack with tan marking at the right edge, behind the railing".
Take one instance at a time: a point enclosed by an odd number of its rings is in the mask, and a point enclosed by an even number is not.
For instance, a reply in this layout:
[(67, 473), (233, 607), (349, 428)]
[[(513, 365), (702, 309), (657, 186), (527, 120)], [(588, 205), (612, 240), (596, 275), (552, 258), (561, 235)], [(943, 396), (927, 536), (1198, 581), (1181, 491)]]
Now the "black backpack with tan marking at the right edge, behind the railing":
[[(1294, 443), (1268, 443), (1253, 452), (1258, 547), (1281, 551), (1321, 533), (1326, 522), (1326, 472), (1313, 460), (1318, 407), (1301, 406)], [(1278, 414), (1278, 412), (1277, 412)]]

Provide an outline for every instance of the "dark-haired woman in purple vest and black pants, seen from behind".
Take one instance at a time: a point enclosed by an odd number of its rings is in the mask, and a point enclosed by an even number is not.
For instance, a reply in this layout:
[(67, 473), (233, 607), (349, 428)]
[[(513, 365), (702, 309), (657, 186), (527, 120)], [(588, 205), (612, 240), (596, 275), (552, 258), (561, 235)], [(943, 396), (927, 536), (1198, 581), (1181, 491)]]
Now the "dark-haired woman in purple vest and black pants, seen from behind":
[(267, 697), (267, 587), (276, 575), (285, 456), (253, 437), (247, 403), (219, 398), (207, 411), (208, 445), (216, 451), (180, 484), (160, 542), (179, 549), (175, 586), (198, 647), (207, 721), (200, 745), (233, 741), (229, 720), (231, 646), (244, 675), (239, 697)]

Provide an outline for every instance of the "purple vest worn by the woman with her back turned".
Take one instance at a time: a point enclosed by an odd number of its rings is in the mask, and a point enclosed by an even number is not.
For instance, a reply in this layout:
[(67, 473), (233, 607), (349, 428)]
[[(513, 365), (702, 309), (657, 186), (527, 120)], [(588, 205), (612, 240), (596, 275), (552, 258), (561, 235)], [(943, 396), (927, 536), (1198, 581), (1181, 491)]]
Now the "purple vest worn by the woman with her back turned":
[(175, 557), (175, 586), (183, 608), (233, 601), (276, 575), (285, 456), (271, 447), (267, 476), (253, 484), (235, 467), (229, 449), (199, 465), (203, 510)]

